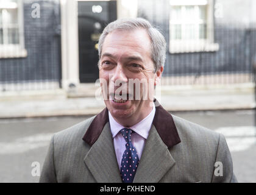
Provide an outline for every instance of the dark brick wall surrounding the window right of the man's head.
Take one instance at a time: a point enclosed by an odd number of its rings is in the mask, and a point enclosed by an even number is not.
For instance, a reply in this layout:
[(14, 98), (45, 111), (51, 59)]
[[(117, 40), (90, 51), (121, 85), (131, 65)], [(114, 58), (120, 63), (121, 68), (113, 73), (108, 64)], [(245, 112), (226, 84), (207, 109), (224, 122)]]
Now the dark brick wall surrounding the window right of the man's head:
[[(256, 54), (256, 19), (254, 0), (218, 0), (223, 15), (214, 18), (216, 52), (170, 54), (169, 0), (138, 1), (138, 16), (148, 19), (162, 30), (167, 42), (164, 75), (251, 73), (252, 58)], [(214, 8), (213, 8), (214, 9)]]

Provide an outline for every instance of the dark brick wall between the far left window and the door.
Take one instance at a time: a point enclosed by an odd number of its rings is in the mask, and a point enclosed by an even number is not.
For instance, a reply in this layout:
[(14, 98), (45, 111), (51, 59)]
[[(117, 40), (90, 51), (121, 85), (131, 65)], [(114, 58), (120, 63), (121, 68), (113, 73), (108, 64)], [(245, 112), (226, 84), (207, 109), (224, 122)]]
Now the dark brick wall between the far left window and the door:
[[(40, 18), (33, 18), (32, 4), (40, 5)], [(0, 59), (0, 82), (59, 81), (59, 1), (23, 1), (24, 43), (27, 57)]]

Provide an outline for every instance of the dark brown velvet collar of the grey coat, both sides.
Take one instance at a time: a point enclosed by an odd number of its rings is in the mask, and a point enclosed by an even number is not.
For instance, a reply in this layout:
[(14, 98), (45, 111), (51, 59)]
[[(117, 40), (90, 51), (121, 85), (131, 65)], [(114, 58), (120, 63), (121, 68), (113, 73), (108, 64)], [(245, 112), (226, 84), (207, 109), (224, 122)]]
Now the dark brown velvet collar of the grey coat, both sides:
[[(154, 102), (155, 101), (156, 100), (154, 99)], [(104, 108), (104, 110), (102, 110), (102, 112), (93, 119), (93, 122), (91, 122), (83, 140), (89, 144), (89, 146), (93, 146), (95, 141), (98, 140), (99, 135), (101, 135), (101, 132), (107, 122), (108, 109)], [(180, 137), (173, 118), (161, 105), (155, 107), (155, 116), (152, 123), (168, 149), (180, 143)]]

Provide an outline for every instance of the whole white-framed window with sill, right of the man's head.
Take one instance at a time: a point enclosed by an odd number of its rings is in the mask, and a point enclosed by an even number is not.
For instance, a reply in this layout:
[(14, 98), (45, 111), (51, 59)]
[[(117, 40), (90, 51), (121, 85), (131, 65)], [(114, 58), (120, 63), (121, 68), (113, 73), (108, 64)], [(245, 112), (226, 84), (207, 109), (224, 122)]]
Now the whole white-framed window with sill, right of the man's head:
[(169, 52), (217, 51), (212, 0), (170, 0)]

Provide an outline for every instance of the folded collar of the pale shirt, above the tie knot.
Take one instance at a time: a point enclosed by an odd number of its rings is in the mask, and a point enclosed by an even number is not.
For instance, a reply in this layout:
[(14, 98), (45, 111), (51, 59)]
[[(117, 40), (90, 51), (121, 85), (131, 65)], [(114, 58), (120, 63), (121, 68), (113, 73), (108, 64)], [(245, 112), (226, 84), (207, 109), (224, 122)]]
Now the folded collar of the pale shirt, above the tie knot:
[[(132, 129), (134, 132), (138, 133), (141, 137), (144, 139), (148, 138), (149, 130), (151, 129), (152, 122), (155, 116), (155, 105), (153, 104), (153, 108), (151, 112), (149, 113), (146, 118), (144, 118), (142, 121), (138, 122), (132, 127), (129, 127), (129, 129)], [(112, 137), (114, 138), (121, 129), (127, 128), (116, 122), (116, 120), (113, 118), (111, 113), (108, 111), (108, 117), (109, 117), (109, 123), (110, 123), (110, 129), (112, 132)]]

